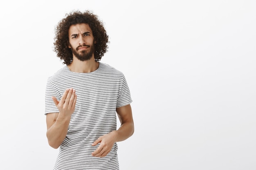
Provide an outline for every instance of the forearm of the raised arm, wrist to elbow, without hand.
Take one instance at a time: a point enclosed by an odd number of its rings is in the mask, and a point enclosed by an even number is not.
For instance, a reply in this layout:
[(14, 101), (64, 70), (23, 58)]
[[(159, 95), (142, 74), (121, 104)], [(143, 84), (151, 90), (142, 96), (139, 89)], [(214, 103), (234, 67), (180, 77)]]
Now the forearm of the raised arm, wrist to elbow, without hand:
[(52, 148), (58, 148), (67, 135), (70, 117), (57, 118), (55, 123), (47, 130), (46, 136)]

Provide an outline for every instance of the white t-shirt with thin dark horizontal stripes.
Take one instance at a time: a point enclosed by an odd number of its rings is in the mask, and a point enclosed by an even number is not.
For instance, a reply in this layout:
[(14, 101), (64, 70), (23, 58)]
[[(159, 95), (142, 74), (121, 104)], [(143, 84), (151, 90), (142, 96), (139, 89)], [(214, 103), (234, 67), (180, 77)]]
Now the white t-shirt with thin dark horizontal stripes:
[(74, 73), (64, 66), (47, 80), (45, 115), (59, 112), (51, 97), (60, 100), (67, 88), (76, 90), (76, 108), (54, 170), (119, 170), (116, 143), (102, 158), (91, 156), (99, 146), (91, 144), (117, 129), (116, 108), (132, 102), (124, 74), (102, 62), (91, 73)]

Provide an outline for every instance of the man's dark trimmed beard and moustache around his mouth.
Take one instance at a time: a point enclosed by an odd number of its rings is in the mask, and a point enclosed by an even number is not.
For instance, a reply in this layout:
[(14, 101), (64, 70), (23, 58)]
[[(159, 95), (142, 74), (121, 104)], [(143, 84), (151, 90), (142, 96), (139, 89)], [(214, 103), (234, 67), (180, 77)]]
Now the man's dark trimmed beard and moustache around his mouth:
[[(92, 58), (92, 54), (94, 53), (94, 45), (92, 45), (92, 46), (83, 45), (83, 46), (87, 46), (88, 48), (85, 50), (82, 50), (81, 52), (78, 52), (79, 47), (81, 47), (81, 45), (76, 47), (76, 49), (74, 49), (71, 46), (71, 51), (72, 51), (73, 55), (76, 56), (76, 58), (82, 62), (86, 61), (86, 60), (90, 60)], [(89, 51), (86, 52), (88, 49), (89, 49)]]

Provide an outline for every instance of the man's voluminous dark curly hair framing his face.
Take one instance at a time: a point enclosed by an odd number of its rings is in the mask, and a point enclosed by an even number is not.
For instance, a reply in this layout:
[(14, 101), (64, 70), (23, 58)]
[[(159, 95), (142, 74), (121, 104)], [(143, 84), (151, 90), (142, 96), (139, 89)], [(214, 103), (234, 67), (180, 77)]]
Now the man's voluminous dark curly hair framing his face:
[(71, 25), (85, 23), (92, 29), (94, 36), (94, 58), (95, 61), (100, 61), (104, 53), (108, 49), (108, 35), (103, 26), (103, 22), (98, 19), (98, 16), (91, 11), (72, 11), (66, 14), (66, 18), (63, 18), (55, 28), (54, 37), (54, 51), (57, 53), (57, 57), (63, 60), (63, 64), (69, 65), (73, 60), (72, 51), (68, 48), (69, 37), (68, 31)]

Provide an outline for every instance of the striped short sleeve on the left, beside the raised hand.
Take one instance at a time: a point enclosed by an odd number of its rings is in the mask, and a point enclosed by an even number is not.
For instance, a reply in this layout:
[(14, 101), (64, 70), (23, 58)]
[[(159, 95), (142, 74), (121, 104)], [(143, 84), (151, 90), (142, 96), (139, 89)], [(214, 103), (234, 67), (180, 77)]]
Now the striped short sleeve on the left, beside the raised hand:
[(47, 113), (58, 113), (59, 112), (58, 108), (56, 107), (56, 105), (54, 104), (54, 102), (52, 100), (52, 96), (56, 97), (57, 100), (61, 99), (61, 97), (56, 92), (56, 89), (51, 84), (51, 82), (49, 82), (49, 79), (48, 79), (47, 83), (46, 83), (46, 88), (45, 88), (45, 115)]

